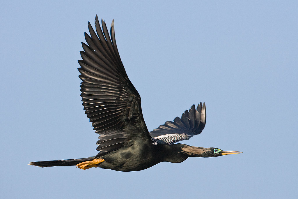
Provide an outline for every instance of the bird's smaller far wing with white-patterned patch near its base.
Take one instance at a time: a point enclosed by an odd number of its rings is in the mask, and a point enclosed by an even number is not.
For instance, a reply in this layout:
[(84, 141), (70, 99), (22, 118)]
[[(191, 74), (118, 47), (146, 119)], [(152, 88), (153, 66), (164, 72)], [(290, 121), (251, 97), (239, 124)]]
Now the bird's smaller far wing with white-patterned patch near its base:
[(206, 124), (206, 106), (200, 102), (197, 109), (193, 105), (189, 111), (184, 111), (181, 118), (176, 117), (173, 122), (166, 121), (157, 129), (150, 131), (152, 138), (174, 144), (182, 140), (188, 140), (193, 135), (202, 132)]

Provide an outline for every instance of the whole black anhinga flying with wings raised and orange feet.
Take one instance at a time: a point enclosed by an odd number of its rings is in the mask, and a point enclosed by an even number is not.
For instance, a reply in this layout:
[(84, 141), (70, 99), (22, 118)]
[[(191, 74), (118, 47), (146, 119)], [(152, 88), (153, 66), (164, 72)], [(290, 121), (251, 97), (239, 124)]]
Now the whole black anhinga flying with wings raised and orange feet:
[(160, 162), (179, 163), (188, 157), (217, 157), (237, 154), (218, 148), (174, 144), (202, 132), (206, 124), (205, 103), (191, 106), (181, 118), (166, 121), (149, 132), (141, 109), (141, 98), (129, 80), (117, 49), (114, 20), (110, 35), (103, 19), (95, 17), (95, 31), (88, 23), (90, 36), (82, 43), (78, 68), (81, 97), (87, 117), (98, 133), (96, 156), (89, 158), (31, 162), (34, 166), (100, 167), (116, 171), (139, 171)]

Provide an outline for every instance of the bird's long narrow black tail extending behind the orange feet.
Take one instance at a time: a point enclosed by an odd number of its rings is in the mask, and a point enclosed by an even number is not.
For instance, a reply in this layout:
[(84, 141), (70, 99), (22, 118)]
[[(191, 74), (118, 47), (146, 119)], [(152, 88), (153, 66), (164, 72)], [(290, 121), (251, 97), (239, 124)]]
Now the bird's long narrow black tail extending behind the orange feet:
[(39, 162), (30, 162), (29, 165), (33, 166), (75, 166), (78, 163), (82, 163), (85, 161), (91, 161), (95, 158), (95, 156), (90, 158), (78, 158), (78, 159), (70, 159), (70, 160), (50, 160), (50, 161), (39, 161)]

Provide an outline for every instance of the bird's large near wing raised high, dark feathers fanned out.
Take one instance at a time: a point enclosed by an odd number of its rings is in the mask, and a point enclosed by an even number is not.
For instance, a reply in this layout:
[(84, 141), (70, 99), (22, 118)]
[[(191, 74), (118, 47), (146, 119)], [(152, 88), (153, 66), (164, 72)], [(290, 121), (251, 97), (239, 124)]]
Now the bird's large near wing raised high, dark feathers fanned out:
[[(100, 153), (117, 150), (136, 137), (151, 142), (142, 110), (141, 98), (125, 72), (115, 41), (114, 20), (111, 38), (105, 22), (103, 31), (98, 17), (96, 32), (88, 23), (90, 36), (85, 33), (87, 44), (82, 43), (79, 60), (81, 96), (87, 117), (95, 133), (100, 134), (97, 149)], [(98, 35), (98, 36), (97, 36)]]

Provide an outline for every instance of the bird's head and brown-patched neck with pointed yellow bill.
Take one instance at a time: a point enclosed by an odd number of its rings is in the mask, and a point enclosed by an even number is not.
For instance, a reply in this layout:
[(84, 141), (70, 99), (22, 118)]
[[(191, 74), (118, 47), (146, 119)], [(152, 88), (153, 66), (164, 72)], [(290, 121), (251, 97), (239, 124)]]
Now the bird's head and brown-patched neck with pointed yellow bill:
[(203, 148), (203, 147), (196, 147), (196, 146), (189, 146), (186, 144), (181, 144), (181, 150), (184, 154), (189, 155), (189, 157), (202, 157), (202, 158), (209, 158), (209, 157), (217, 157), (221, 155), (231, 155), (231, 154), (238, 154), (242, 153), (239, 151), (223, 151), (218, 148)]

